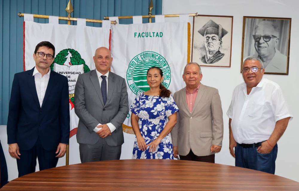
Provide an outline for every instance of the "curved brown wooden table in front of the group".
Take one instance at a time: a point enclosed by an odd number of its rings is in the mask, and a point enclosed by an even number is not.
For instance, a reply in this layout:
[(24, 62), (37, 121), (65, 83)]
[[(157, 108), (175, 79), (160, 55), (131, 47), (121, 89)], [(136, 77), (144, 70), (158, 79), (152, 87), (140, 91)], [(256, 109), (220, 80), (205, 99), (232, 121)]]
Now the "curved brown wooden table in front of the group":
[(299, 190), (277, 175), (222, 164), (116, 160), (57, 167), (10, 181), (5, 190)]

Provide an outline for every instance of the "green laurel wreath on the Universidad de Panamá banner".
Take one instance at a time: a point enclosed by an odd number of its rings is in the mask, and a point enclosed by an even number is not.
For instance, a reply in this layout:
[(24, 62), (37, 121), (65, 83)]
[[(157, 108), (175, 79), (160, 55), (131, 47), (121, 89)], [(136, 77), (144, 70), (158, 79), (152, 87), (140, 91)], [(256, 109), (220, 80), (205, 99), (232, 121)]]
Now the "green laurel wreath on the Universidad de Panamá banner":
[[(81, 55), (78, 53), (77, 50), (71, 49), (71, 48), (67, 48), (64, 50), (61, 50), (56, 57), (54, 58), (53, 63), (50, 66), (50, 69), (52, 71), (54, 71), (54, 64), (59, 64), (59, 65), (63, 65), (66, 61), (66, 57), (68, 56), (68, 52), (71, 53), (72, 57), (70, 57), (71, 59), (71, 64), (72, 65), (81, 65), (84, 64), (83, 70), (84, 73), (89, 72), (90, 69), (89, 67), (85, 64), (85, 61), (83, 60), (83, 58), (81, 58)], [(74, 103), (74, 97), (71, 98), (71, 102)]]

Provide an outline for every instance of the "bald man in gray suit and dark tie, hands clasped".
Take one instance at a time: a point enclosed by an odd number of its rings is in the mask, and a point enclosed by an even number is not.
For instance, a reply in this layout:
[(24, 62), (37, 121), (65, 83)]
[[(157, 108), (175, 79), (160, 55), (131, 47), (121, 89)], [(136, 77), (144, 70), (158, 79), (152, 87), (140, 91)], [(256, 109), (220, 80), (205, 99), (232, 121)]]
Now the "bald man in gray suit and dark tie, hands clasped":
[(120, 158), (122, 123), (129, 112), (126, 81), (109, 72), (113, 60), (109, 49), (98, 48), (93, 59), (96, 69), (80, 74), (75, 88), (82, 163)]

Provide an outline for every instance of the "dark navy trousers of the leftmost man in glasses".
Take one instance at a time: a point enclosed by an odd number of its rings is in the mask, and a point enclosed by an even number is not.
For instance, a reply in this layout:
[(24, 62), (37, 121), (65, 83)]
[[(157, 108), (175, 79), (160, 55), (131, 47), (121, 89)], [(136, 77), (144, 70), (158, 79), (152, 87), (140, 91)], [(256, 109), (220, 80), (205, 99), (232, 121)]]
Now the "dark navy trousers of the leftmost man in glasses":
[[(57, 145), (58, 146), (58, 145)], [(17, 160), (19, 177), (35, 172), (36, 157), (38, 158), (39, 170), (54, 168), (57, 165), (58, 158), (56, 150), (48, 151), (42, 147), (38, 138), (35, 145), (30, 150), (20, 150), (20, 159)]]

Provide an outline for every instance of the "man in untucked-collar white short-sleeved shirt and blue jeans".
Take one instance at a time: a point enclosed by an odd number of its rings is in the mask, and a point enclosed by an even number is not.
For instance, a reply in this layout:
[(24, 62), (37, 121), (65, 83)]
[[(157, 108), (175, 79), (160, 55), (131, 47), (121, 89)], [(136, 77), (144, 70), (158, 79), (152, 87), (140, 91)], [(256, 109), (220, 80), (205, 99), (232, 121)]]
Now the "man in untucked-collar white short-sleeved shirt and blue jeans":
[(244, 60), (242, 75), (245, 83), (234, 89), (227, 111), (229, 149), (237, 167), (274, 174), (277, 141), (292, 115), (281, 88), (263, 78), (264, 72), (260, 58)]

